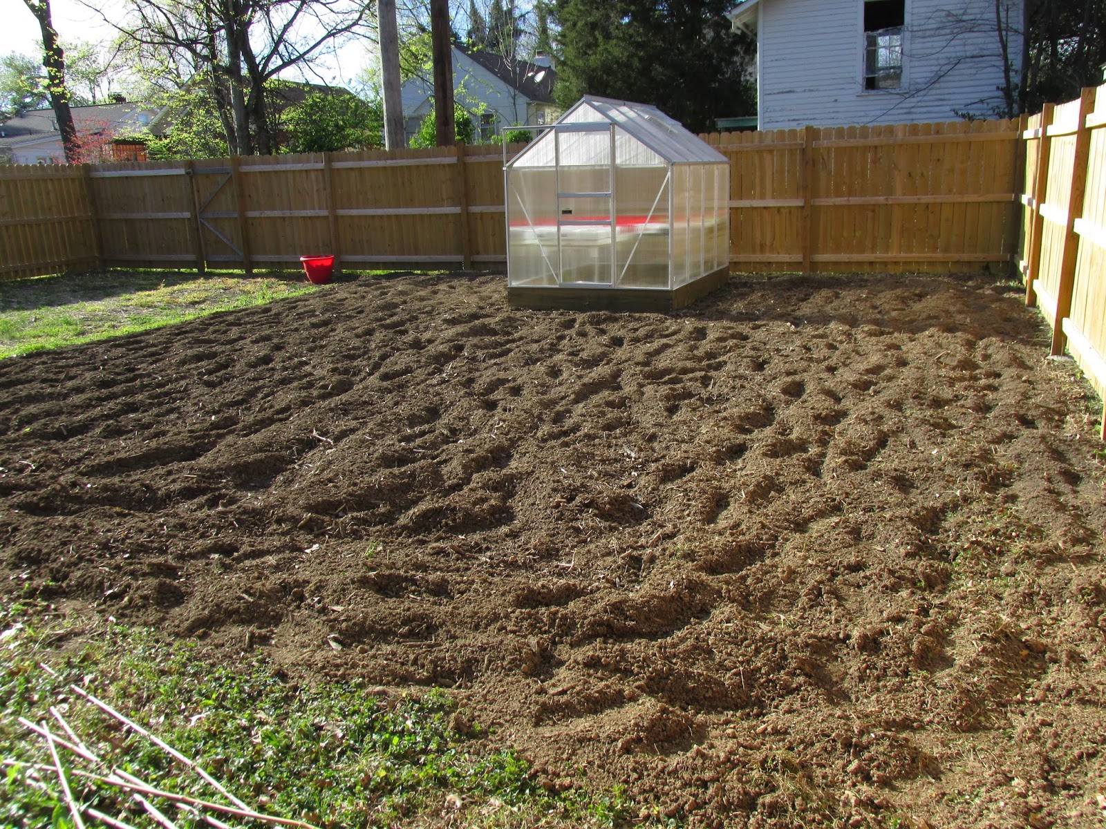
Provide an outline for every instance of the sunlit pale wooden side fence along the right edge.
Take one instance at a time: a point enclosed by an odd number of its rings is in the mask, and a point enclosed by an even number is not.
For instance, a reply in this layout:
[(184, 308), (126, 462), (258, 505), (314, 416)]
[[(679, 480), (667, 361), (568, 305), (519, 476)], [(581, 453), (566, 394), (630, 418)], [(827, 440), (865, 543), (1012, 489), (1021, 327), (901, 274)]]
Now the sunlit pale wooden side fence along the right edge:
[(1047, 104), (1022, 138), (1025, 302), (1048, 321), (1052, 353), (1066, 346), (1106, 398), (1106, 86)]

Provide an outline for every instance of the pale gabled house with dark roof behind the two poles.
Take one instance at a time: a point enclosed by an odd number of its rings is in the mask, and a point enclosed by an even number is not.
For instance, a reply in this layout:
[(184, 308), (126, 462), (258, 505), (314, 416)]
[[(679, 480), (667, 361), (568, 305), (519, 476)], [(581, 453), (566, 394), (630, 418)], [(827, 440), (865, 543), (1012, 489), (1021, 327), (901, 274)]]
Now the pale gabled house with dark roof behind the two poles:
[[(453, 45), (453, 95), (472, 113), (477, 140), (487, 141), (504, 127), (552, 124), (559, 111), (553, 105), (556, 72), (547, 57), (533, 63), (504, 60), (492, 52)], [(418, 133), (422, 119), (434, 111), (434, 81), (409, 77), (403, 85), (404, 124), (407, 139)]]

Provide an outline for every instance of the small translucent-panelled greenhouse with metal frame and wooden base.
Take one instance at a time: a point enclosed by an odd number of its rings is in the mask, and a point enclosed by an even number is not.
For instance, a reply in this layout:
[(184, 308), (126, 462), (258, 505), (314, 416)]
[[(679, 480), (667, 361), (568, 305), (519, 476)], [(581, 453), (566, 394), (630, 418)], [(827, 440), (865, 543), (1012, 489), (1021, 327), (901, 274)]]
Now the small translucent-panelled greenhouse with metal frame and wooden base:
[(726, 284), (729, 161), (655, 107), (584, 97), (505, 176), (514, 307), (667, 311)]

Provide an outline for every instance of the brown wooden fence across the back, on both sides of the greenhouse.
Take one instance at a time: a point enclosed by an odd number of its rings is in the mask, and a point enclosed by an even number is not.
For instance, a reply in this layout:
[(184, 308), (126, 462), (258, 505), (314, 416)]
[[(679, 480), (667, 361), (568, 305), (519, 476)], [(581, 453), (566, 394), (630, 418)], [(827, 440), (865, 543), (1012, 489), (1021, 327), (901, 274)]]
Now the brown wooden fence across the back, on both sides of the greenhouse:
[[(740, 271), (1005, 270), (1014, 122), (703, 138), (730, 159)], [(509, 148), (509, 153), (518, 148)], [(107, 266), (502, 266), (502, 149), (0, 167), (0, 276)]]

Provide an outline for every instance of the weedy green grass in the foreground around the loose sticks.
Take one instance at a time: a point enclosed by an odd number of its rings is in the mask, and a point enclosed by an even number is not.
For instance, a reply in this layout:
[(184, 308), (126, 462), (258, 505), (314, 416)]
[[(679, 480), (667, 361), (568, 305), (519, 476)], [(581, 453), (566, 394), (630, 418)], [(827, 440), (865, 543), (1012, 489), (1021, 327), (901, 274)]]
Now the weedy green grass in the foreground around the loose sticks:
[[(619, 791), (540, 788), (512, 749), (487, 748), (480, 739), (487, 732), (440, 690), (385, 700), (358, 682), (301, 685), (260, 655), (220, 667), (195, 643), (165, 644), (147, 631), (100, 622), (74, 628), (50, 606), (0, 609), (0, 752), (8, 759), (51, 762), (42, 741), (17, 720), (45, 720), (61, 733), (49, 714), (56, 705), (109, 763), (164, 790), (219, 799), (160, 749), (69, 691), (72, 682), (196, 759), (246, 802), (327, 829), (616, 826), (629, 812)], [(0, 826), (71, 826), (56, 776), (39, 773), (51, 789), (45, 793), (29, 783), (31, 774), (27, 766), (6, 769)], [(81, 802), (135, 827), (154, 826), (117, 789), (72, 775), (71, 781)], [(173, 811), (181, 829), (202, 826), (166, 802), (158, 806)]]

